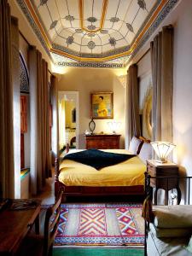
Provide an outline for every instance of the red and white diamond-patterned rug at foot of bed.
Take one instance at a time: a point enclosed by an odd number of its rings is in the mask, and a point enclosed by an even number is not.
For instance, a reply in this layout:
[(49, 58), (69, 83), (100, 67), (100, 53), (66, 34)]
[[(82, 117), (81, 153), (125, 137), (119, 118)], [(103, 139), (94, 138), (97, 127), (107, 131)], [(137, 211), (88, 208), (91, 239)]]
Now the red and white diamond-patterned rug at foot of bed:
[(142, 205), (138, 204), (63, 204), (55, 246), (143, 247), (141, 214)]

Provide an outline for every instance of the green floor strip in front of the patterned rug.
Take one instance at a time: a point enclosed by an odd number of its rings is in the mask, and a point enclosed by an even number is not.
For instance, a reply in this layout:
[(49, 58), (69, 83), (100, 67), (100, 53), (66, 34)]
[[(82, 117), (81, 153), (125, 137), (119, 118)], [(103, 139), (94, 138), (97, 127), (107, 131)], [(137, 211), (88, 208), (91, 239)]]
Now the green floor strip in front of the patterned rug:
[(54, 248), (53, 256), (144, 256), (144, 250), (141, 248), (87, 248), (87, 247), (79, 247), (79, 248)]

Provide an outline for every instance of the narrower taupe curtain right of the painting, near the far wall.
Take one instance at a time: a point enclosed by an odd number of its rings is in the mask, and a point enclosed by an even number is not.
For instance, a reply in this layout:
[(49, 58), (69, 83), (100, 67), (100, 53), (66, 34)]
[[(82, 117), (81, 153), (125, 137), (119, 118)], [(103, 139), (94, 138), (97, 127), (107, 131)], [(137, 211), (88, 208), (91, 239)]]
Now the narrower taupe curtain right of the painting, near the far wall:
[(139, 137), (141, 135), (136, 64), (131, 65), (128, 69), (127, 107), (127, 135), (129, 145), (133, 136)]

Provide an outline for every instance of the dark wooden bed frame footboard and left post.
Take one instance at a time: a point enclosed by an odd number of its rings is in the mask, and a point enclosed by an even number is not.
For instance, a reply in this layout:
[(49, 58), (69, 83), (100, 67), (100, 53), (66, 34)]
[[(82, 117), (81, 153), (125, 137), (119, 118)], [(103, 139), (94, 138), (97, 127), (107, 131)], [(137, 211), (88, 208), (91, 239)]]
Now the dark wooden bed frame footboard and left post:
[[(122, 187), (86, 187), (86, 186), (66, 186), (59, 181), (60, 160), (55, 159), (55, 196), (60, 189), (64, 191), (62, 201), (67, 201), (67, 196), (108, 196), (108, 195), (139, 195), (144, 198), (144, 186), (122, 186)], [(141, 198), (141, 199), (142, 199)]]

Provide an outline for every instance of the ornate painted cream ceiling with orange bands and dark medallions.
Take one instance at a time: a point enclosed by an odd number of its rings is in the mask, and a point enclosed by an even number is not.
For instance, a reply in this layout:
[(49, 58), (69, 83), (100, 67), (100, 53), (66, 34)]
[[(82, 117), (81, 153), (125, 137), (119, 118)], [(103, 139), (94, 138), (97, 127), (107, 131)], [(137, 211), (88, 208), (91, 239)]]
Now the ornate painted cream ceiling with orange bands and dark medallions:
[(171, 2), (177, 1), (17, 0), (55, 63), (74, 67), (123, 67)]

